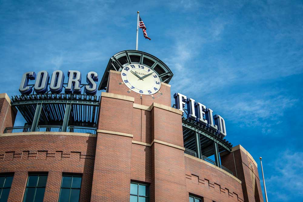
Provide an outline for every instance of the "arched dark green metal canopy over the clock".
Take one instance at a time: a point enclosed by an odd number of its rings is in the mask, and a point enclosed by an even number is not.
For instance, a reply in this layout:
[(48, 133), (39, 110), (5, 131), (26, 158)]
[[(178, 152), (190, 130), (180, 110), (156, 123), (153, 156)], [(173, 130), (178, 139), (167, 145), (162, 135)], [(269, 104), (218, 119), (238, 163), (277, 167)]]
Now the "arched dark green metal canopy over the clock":
[(148, 66), (157, 73), (162, 82), (167, 84), (173, 76), (173, 73), (168, 68), (168, 66), (155, 56), (143, 51), (126, 50), (116, 53), (108, 61), (98, 90), (106, 89), (109, 70), (121, 71), (125, 66), (129, 64), (141, 64)]

